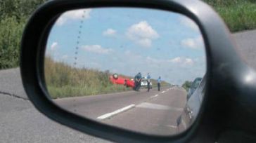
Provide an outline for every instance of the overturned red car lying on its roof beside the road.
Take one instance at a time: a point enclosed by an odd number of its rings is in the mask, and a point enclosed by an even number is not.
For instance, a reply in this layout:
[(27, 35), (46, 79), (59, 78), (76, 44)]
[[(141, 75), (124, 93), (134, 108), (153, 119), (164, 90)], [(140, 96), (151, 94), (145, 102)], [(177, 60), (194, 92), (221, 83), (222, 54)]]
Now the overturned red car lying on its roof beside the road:
[(109, 79), (113, 84), (122, 84), (124, 86), (131, 87), (131, 88), (135, 87), (135, 83), (133, 79), (130, 80), (123, 77), (119, 77), (118, 74), (113, 74), (112, 76), (110, 76)]

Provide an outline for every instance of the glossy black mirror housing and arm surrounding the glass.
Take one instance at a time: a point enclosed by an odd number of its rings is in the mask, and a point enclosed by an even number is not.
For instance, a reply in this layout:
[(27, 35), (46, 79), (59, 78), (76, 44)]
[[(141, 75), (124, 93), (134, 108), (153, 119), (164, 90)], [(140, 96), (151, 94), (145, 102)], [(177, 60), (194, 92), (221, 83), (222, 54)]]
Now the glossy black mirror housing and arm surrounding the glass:
[[(195, 21), (203, 34), (207, 55), (205, 98), (196, 122), (179, 135), (152, 136), (114, 128), (77, 116), (48, 99), (44, 81), (44, 52), (51, 26), (58, 16), (72, 9), (136, 7), (174, 11)], [(49, 118), (81, 132), (115, 142), (187, 142), (200, 137), (200, 129), (215, 130), (216, 139), (225, 128), (255, 132), (256, 77), (236, 54), (229, 30), (217, 13), (202, 1), (191, 0), (55, 0), (41, 6), (25, 27), (21, 45), (20, 70), (25, 91), (34, 106)], [(246, 104), (243, 104), (246, 103)], [(236, 105), (236, 107), (235, 107)], [(245, 121), (244, 117), (247, 118)], [(256, 133), (256, 132), (255, 132)]]

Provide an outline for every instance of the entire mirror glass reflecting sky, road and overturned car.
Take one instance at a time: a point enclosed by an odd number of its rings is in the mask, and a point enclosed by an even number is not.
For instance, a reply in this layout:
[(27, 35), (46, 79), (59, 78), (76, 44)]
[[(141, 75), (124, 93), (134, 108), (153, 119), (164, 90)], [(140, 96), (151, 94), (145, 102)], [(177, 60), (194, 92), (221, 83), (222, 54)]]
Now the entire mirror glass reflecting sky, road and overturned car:
[(205, 46), (184, 15), (146, 8), (68, 11), (46, 46), (46, 88), (63, 109), (151, 135), (183, 132), (198, 114)]

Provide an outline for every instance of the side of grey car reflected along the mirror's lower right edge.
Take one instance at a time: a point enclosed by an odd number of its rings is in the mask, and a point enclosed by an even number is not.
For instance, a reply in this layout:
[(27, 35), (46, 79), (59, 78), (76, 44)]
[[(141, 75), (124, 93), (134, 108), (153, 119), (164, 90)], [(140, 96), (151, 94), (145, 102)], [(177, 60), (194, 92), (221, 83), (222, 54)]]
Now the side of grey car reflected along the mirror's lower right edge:
[(193, 92), (191, 93), (191, 96), (187, 98), (188, 100), (181, 116), (177, 118), (177, 132), (186, 130), (186, 128), (190, 127), (193, 124), (193, 121), (195, 121), (203, 100), (203, 94), (205, 93), (205, 77), (206, 76), (203, 78), (196, 78), (193, 81), (190, 88)]

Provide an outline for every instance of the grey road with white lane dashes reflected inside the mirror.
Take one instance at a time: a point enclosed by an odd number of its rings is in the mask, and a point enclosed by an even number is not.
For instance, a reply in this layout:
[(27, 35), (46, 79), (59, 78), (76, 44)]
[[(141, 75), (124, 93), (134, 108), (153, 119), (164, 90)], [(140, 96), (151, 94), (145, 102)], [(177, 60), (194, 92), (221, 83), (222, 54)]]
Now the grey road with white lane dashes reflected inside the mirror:
[(55, 100), (68, 111), (120, 128), (155, 135), (176, 133), (176, 120), (186, 104), (186, 90), (172, 87), (150, 92), (129, 91), (108, 95)]

